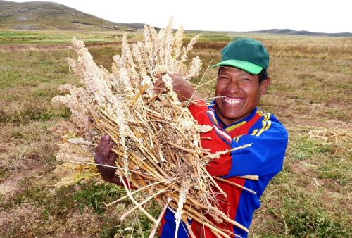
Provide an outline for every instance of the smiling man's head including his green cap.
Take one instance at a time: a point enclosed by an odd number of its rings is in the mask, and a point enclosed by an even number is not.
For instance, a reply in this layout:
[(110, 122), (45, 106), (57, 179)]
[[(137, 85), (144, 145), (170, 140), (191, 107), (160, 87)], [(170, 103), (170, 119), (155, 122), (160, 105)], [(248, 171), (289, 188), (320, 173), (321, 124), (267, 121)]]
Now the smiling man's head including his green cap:
[(249, 115), (265, 94), (270, 78), (268, 52), (260, 42), (239, 39), (222, 49), (215, 91), (217, 115), (231, 124)]

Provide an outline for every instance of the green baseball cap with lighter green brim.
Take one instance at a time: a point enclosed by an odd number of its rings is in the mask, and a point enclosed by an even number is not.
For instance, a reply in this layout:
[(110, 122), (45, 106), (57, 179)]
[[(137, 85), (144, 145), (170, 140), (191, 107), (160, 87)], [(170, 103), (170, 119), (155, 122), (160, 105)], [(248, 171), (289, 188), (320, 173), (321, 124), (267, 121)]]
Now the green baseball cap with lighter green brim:
[(221, 51), (221, 62), (213, 65), (213, 68), (219, 66), (231, 66), (245, 70), (253, 75), (258, 75), (263, 68), (268, 70), (269, 54), (263, 44), (255, 39), (243, 38), (237, 39)]

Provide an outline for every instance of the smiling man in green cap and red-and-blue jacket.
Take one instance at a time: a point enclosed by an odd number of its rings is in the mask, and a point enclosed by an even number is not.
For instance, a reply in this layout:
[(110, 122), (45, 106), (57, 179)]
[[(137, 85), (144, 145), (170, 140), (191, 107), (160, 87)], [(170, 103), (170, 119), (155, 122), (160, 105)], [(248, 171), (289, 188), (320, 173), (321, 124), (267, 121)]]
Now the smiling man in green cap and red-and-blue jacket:
[[(234, 151), (214, 159), (206, 166), (210, 175), (252, 189), (251, 194), (238, 189), (228, 182), (218, 181), (227, 194), (227, 198), (218, 196), (219, 209), (229, 218), (245, 227), (251, 224), (253, 212), (260, 207), (259, 198), (268, 182), (282, 169), (284, 153), (287, 147), (287, 130), (271, 113), (257, 108), (260, 97), (265, 94), (270, 84), (267, 70), (268, 52), (260, 42), (245, 38), (231, 42), (222, 49), (222, 61), (219, 67), (215, 100), (207, 107), (201, 96), (180, 75), (171, 74), (174, 91), (180, 101), (192, 101), (189, 111), (200, 125), (212, 125), (211, 132), (202, 134), (203, 148), (211, 152), (223, 151), (244, 144), (249, 148)], [(161, 80), (156, 83), (156, 90), (163, 88)], [(103, 137), (96, 151), (96, 163), (113, 163), (113, 146), (108, 137)], [(110, 161), (109, 161), (110, 159)], [(98, 166), (106, 180), (115, 180), (111, 168)], [(259, 180), (249, 180), (241, 176), (258, 175)], [(212, 220), (211, 217), (209, 217)], [(191, 229), (197, 237), (213, 238), (213, 233), (201, 224), (190, 221)], [(218, 224), (241, 237), (247, 237), (244, 230), (228, 223)], [(171, 209), (162, 220), (160, 237), (175, 237), (175, 218)], [(188, 237), (185, 226), (180, 226), (177, 237)]]

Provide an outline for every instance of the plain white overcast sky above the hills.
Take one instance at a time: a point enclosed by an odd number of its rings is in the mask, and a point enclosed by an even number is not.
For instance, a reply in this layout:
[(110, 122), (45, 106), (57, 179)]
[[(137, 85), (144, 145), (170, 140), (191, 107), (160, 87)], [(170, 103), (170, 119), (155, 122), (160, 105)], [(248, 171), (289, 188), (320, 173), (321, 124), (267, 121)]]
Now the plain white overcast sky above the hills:
[[(41, 1), (41, 0), (34, 0)], [(50, 0), (46, 0), (50, 1)], [(25, 2), (25, 1), (16, 1)], [(146, 23), (185, 30), (251, 31), (268, 29), (352, 32), (349, 0), (53, 0), (115, 23)]]

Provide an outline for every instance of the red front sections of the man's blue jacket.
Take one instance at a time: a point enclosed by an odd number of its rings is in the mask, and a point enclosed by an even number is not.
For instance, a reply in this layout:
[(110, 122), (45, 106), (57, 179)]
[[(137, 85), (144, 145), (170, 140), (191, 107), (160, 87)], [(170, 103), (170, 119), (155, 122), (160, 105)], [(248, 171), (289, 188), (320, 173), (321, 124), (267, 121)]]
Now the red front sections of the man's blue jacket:
[[(213, 123), (211, 123), (208, 116), (205, 116), (206, 111), (208, 111), (208, 107), (206, 106), (205, 102), (200, 102), (197, 105), (190, 105), (188, 108), (189, 108), (189, 111), (191, 111), (191, 114), (193, 115), (193, 117), (199, 123), (199, 125), (213, 126)], [(248, 134), (249, 129), (260, 119), (260, 117), (261, 116), (258, 113), (256, 113), (256, 115), (254, 115), (253, 118), (251, 118), (251, 120), (249, 120), (248, 122), (244, 123), (244, 125), (241, 125), (228, 133), (225, 130), (222, 130), (222, 128), (220, 127), (218, 128), (223, 132), (226, 132), (227, 134), (229, 134), (231, 138), (234, 138), (237, 135)], [(215, 130), (203, 133), (201, 134), (201, 136), (211, 138), (210, 140), (209, 139), (201, 140), (201, 146), (203, 148), (210, 149), (210, 152), (212, 153), (231, 149), (231, 146), (223, 142), (222, 139), (218, 136), (218, 134), (215, 133)], [(208, 170), (208, 172), (212, 176), (223, 176), (223, 175), (227, 175), (230, 172), (231, 167), (232, 167), (232, 156), (231, 154), (225, 154), (223, 156), (220, 156), (220, 158), (215, 158), (213, 161), (210, 161), (208, 165), (206, 165), (206, 170)], [(239, 177), (230, 177), (230, 178), (227, 178), (227, 180), (230, 182), (237, 183), (241, 186), (244, 186), (244, 182), (246, 182), (245, 179), (239, 178)], [(241, 196), (242, 189), (218, 180), (217, 180), (217, 183), (219, 187), (227, 194), (227, 199), (225, 199), (224, 196), (218, 195), (217, 207), (221, 211), (223, 211), (229, 218), (234, 220), (236, 217), (236, 211), (239, 205), (239, 198)], [(208, 215), (207, 218), (213, 221), (213, 223), (216, 224), (218, 227), (222, 228), (224, 232), (226, 232), (227, 234), (233, 237), (234, 228), (232, 224), (227, 222), (216, 223), (215, 220), (213, 220), (213, 218), (211, 217), (211, 215)], [(213, 232), (210, 231), (208, 227), (204, 227), (203, 225), (201, 225), (200, 223), (197, 223), (194, 220), (191, 223), (191, 229), (193, 230), (194, 234), (200, 234), (200, 237), (215, 238), (215, 235), (213, 234)]]

